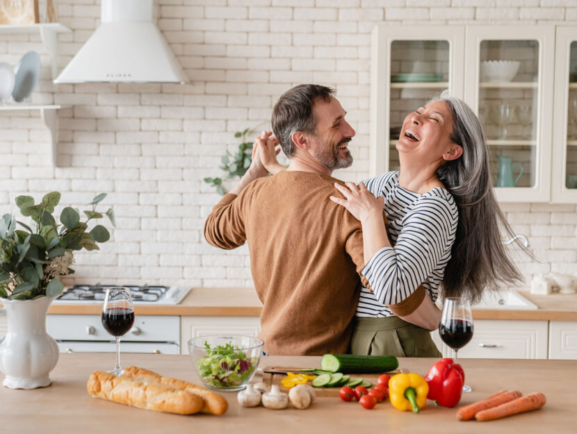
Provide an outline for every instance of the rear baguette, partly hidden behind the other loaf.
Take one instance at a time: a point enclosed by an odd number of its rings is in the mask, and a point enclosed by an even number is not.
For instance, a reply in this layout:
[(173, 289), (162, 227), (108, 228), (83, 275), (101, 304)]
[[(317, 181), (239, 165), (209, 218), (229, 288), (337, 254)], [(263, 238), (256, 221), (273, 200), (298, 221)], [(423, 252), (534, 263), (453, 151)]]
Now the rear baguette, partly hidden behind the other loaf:
[(212, 392), (205, 387), (200, 387), (186, 381), (178, 380), (177, 378), (163, 377), (156, 372), (148, 371), (147, 369), (139, 368), (136, 366), (129, 366), (124, 369), (124, 374), (122, 376), (127, 378), (134, 378), (138, 381), (143, 381), (147, 384), (161, 384), (170, 387), (174, 387), (178, 390), (186, 390), (201, 397), (204, 401), (204, 406), (202, 410), (203, 413), (210, 413), (212, 415), (222, 415), (229, 408), (229, 403), (224, 397), (221, 397), (218, 393)]

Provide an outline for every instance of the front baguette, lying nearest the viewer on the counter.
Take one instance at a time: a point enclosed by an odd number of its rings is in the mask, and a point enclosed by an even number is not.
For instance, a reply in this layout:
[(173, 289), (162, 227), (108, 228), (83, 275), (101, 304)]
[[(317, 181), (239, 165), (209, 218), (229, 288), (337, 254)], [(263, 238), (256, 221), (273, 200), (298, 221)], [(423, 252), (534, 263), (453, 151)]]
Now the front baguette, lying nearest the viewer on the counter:
[(92, 372), (86, 388), (92, 397), (177, 415), (192, 415), (199, 412), (204, 404), (200, 397), (184, 390), (147, 384), (101, 371)]

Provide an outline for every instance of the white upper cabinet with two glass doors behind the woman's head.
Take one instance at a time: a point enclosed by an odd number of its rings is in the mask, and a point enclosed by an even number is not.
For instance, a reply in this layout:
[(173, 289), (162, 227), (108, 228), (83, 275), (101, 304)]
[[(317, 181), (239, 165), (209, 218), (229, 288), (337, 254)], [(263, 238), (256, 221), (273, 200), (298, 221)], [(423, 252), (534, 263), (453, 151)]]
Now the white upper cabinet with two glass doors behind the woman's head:
[[(551, 159), (555, 26), (379, 25), (372, 56), (371, 176), (398, 169), (394, 144), (405, 115), (449, 89), (485, 126), (498, 200), (551, 200), (551, 176), (561, 169)], [(481, 68), (489, 60), (519, 69), (510, 79), (487, 77)]]

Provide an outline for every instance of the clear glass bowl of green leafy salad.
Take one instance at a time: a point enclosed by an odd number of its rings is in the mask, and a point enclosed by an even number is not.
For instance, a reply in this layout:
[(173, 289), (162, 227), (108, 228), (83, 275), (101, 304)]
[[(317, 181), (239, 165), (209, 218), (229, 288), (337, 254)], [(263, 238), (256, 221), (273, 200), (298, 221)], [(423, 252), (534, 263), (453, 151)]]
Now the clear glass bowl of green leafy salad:
[(257, 371), (264, 342), (258, 337), (209, 335), (188, 341), (200, 381), (213, 390), (243, 390)]

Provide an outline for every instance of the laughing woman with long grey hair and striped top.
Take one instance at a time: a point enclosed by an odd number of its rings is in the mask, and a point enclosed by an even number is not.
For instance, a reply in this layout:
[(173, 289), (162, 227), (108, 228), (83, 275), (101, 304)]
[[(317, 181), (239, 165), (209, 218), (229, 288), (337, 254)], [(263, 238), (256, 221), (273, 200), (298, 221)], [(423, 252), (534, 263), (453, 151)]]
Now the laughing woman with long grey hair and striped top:
[[(439, 324), (433, 302), (441, 283), (443, 297), (477, 301), (485, 290), (519, 280), (499, 229), (512, 231), (491, 189), (485, 134), (466, 103), (443, 92), (410, 113), (396, 148), (399, 172), (371, 178), (366, 186), (336, 185), (344, 199), (331, 197), (361, 222), (362, 273), (371, 286), (361, 292), (351, 350), (439, 357), (429, 331)], [(425, 297), (410, 315), (401, 318), (389, 309), (418, 290)]]

